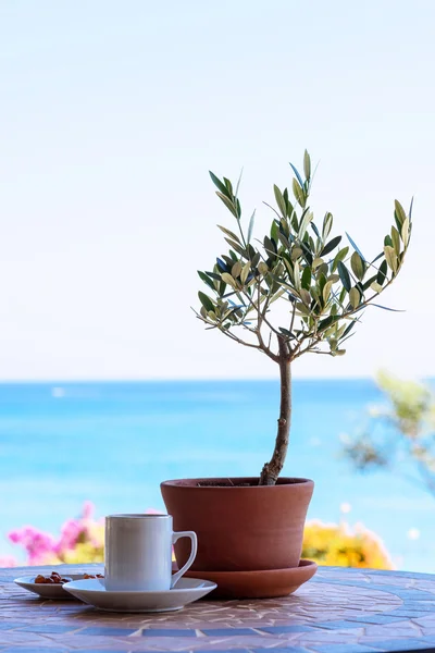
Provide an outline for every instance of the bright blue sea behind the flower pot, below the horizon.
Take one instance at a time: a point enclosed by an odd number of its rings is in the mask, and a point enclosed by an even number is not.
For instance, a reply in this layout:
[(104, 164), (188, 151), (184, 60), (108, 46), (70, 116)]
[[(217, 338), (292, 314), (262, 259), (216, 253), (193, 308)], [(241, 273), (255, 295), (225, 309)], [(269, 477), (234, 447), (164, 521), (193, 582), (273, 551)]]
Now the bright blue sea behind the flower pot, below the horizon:
[[(315, 480), (309, 518), (338, 521), (349, 503), (348, 521), (378, 533), (399, 568), (434, 571), (435, 500), (339, 456), (339, 434), (381, 399), (368, 380), (296, 381), (285, 473)], [(0, 384), (0, 555), (18, 554), (9, 530), (57, 533), (85, 500), (98, 516), (159, 509), (164, 479), (257, 476), (277, 402), (273, 381)]]

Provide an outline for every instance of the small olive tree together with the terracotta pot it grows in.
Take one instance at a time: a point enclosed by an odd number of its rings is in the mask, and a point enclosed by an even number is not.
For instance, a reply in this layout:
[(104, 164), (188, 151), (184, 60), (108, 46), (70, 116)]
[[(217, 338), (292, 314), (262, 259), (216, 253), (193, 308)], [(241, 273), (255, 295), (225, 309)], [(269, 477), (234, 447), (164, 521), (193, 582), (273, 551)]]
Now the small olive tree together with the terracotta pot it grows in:
[[(176, 530), (198, 533), (192, 569), (203, 578), (216, 571), (298, 567), (313, 482), (279, 477), (289, 443), (293, 364), (306, 354), (346, 353), (345, 343), (363, 310), (384, 308), (377, 298), (398, 275), (410, 241), (412, 204), (407, 214), (396, 200), (390, 232), (369, 258), (348, 234), (332, 235), (332, 213), (314, 221), (307, 151), (303, 175), (294, 165), (291, 170), (294, 198), (287, 188), (274, 186), (273, 220), (261, 241), (252, 237), (254, 213), (247, 227), (243, 225), (239, 184), (234, 188), (226, 177), (210, 173), (234, 225), (220, 226), (227, 252), (209, 271), (198, 272), (206, 287), (198, 294), (197, 317), (207, 329), (256, 349), (277, 366), (281, 403), (272, 456), (258, 477), (162, 483)], [(177, 562), (184, 564), (187, 556), (185, 541), (179, 540)]]

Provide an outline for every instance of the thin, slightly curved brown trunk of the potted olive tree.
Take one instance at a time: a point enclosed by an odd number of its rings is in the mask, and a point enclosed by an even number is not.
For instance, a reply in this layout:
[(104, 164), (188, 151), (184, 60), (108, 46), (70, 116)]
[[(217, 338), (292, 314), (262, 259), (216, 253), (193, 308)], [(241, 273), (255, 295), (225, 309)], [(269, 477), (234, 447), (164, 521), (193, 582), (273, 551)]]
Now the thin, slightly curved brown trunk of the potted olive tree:
[(290, 353), (287, 342), (278, 336), (279, 344), (279, 378), (281, 378), (281, 405), (278, 418), (278, 432), (275, 441), (275, 449), (270, 463), (265, 463), (261, 476), (260, 485), (275, 485), (283, 469), (287, 455), (288, 439), (290, 433), (291, 418), (291, 370)]

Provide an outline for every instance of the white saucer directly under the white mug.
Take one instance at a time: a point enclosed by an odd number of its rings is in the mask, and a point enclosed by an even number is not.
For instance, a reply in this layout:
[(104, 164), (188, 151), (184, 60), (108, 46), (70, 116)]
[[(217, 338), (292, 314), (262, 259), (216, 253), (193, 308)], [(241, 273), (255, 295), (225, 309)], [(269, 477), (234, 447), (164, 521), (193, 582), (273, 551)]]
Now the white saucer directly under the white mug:
[(188, 603), (206, 596), (216, 583), (197, 578), (181, 578), (172, 590), (164, 592), (109, 591), (104, 580), (90, 578), (66, 582), (63, 588), (84, 603), (98, 609), (123, 613), (156, 613), (182, 609)]

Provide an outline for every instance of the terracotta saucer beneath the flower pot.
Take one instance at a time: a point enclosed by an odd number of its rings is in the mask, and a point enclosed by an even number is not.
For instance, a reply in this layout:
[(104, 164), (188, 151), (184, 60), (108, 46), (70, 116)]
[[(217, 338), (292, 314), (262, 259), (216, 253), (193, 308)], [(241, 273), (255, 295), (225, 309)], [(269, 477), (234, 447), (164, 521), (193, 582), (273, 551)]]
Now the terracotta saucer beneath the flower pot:
[(273, 599), (287, 596), (310, 580), (318, 570), (312, 560), (299, 567), (261, 571), (186, 571), (185, 577), (204, 578), (217, 584), (210, 599)]

